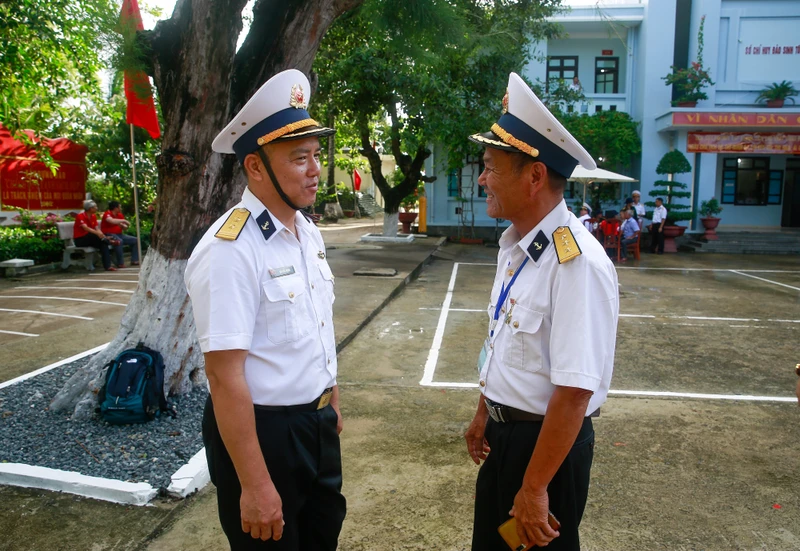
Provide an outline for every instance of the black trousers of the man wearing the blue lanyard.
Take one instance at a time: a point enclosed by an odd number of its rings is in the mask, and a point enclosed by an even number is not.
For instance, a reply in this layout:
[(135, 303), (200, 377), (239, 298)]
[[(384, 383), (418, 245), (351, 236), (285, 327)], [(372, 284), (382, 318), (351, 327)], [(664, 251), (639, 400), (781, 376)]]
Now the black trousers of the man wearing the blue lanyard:
[[(511, 518), (508, 512), (522, 487), (525, 470), (539, 438), (541, 422), (495, 423), (486, 426), (492, 451), (478, 472), (472, 551), (502, 551), (508, 545), (497, 528)], [(550, 511), (561, 523), (559, 537), (548, 551), (579, 551), (580, 526), (589, 495), (589, 472), (594, 455), (592, 420), (583, 421), (575, 444), (547, 486)]]

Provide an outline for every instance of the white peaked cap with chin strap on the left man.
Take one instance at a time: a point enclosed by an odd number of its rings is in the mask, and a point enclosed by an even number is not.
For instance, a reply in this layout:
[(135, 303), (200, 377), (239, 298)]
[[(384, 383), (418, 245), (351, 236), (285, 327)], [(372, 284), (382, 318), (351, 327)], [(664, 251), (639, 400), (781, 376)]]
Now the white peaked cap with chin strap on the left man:
[(220, 132), (211, 149), (236, 153), (240, 162), (259, 147), (277, 141), (329, 136), (331, 128), (317, 124), (307, 108), (311, 85), (297, 69), (282, 71), (265, 82)]

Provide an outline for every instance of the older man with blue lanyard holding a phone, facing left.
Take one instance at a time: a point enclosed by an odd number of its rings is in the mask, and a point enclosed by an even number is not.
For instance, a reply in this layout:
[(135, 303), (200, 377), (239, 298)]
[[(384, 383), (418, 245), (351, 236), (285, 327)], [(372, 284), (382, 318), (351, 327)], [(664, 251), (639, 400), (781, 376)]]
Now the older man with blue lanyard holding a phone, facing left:
[(514, 73), (503, 113), (491, 132), (470, 137), (486, 147), (478, 183), (487, 213), (512, 222), (500, 239), (481, 396), (465, 436), (483, 461), (472, 549), (506, 548), (498, 527), (511, 516), (522, 543), (578, 550), (591, 417), (614, 364), (617, 276), (563, 199), (575, 166), (595, 168), (591, 156)]

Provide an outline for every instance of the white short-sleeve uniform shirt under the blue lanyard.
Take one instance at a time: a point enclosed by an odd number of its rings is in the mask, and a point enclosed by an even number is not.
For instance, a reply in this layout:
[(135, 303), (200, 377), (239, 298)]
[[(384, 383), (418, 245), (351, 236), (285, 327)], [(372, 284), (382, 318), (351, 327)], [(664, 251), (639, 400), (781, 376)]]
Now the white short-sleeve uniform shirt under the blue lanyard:
[[(569, 227), (582, 253), (564, 264), (553, 245), (559, 226)], [(605, 402), (614, 368), (616, 270), (562, 201), (524, 237), (514, 226), (503, 233), (488, 309), (490, 330), (501, 288), (526, 257), (489, 337), (481, 392), (503, 405), (544, 415), (556, 386), (582, 388), (594, 392), (589, 415)]]

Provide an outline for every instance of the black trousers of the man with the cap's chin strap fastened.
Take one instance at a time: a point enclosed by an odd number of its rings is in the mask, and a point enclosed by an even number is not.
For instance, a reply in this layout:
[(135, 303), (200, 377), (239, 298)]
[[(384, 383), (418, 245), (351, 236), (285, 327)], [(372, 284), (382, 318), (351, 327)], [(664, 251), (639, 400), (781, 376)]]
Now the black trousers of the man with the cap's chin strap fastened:
[(255, 414), (261, 452), (283, 503), (286, 524), (279, 541), (261, 541), (242, 531), (242, 487), (220, 437), (210, 396), (203, 412), (208, 470), (231, 550), (334, 551), (346, 511), (336, 412), (328, 406), (310, 412), (256, 409)]

